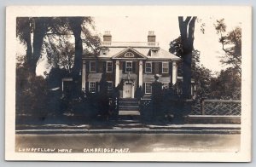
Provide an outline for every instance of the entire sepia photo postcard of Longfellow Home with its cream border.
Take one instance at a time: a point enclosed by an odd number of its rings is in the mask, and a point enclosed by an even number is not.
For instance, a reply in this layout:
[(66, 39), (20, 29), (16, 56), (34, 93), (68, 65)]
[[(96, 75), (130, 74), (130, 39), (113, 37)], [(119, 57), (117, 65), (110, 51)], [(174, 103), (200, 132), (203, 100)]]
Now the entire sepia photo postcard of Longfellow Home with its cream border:
[(251, 159), (246, 6), (7, 8), (6, 159)]

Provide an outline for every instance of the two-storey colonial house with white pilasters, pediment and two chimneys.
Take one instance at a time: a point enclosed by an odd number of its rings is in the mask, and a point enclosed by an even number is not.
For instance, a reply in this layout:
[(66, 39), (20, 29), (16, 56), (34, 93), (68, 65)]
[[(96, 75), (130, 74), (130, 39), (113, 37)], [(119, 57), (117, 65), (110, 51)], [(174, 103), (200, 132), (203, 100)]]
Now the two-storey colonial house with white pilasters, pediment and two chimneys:
[(100, 55), (83, 55), (82, 90), (99, 91), (103, 73), (108, 89), (118, 87), (120, 98), (134, 98), (138, 88), (151, 95), (155, 74), (163, 87), (175, 84), (180, 58), (161, 49), (155, 39), (154, 32), (148, 32), (145, 43), (113, 42), (110, 32), (105, 32)]

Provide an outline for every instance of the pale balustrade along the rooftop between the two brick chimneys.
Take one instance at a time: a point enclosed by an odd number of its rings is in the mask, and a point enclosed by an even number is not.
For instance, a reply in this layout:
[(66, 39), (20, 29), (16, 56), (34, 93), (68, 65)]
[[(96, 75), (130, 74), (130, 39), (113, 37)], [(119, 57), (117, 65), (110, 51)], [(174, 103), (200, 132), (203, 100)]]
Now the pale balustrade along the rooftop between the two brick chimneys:
[(102, 42), (102, 46), (141, 46), (141, 47), (158, 47), (159, 43), (157, 42)]

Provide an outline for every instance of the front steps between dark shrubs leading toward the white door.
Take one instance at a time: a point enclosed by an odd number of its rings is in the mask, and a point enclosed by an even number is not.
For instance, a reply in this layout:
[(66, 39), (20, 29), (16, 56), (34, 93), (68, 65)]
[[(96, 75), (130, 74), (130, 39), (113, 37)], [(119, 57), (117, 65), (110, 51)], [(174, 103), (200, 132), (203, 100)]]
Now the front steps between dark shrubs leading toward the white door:
[(140, 115), (137, 99), (120, 99), (119, 115)]

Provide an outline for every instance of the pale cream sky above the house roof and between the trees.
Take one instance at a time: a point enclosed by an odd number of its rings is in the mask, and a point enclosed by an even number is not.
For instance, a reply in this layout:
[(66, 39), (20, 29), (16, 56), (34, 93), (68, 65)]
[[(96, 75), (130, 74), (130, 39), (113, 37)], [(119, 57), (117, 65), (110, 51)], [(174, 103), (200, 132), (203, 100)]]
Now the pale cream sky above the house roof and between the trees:
[[(213, 24), (216, 20), (214, 16), (199, 17), (195, 22), (194, 48), (201, 51), (201, 64), (212, 71), (212, 74), (220, 72), (227, 66), (220, 63), (220, 57), (224, 56), (221, 43), (218, 43), (218, 34)], [(240, 20), (236, 18), (224, 18), (227, 25), (227, 32), (241, 26)], [(156, 42), (159, 42), (162, 49), (169, 49), (172, 40), (179, 37), (179, 27), (177, 16), (97, 16), (94, 17), (96, 33), (101, 37), (104, 32), (110, 31), (113, 42), (147, 42), (148, 31), (154, 31)], [(205, 33), (201, 32), (201, 24), (205, 23)], [(25, 55), (26, 48), (18, 44), (18, 55)], [(49, 66), (45, 56), (40, 60), (37, 67), (37, 74), (44, 75), (49, 72)]]

